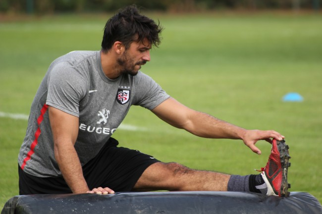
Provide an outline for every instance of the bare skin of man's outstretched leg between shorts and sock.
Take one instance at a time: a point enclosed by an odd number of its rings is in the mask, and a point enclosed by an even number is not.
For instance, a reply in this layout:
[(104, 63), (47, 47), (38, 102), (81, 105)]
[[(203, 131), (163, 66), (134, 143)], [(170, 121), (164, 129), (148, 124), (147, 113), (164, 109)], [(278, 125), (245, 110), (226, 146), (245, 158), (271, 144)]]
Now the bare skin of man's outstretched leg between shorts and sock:
[(135, 184), (134, 191), (227, 191), (230, 175), (199, 171), (178, 163), (155, 163)]

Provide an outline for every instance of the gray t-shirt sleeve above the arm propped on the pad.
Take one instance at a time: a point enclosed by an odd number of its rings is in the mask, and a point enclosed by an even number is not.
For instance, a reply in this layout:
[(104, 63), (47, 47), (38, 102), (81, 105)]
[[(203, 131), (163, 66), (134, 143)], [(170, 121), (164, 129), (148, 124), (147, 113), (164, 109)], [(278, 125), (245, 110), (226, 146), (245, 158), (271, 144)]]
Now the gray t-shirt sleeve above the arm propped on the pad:
[(67, 62), (58, 63), (48, 78), (46, 104), (79, 117), (79, 102), (87, 88), (84, 76)]

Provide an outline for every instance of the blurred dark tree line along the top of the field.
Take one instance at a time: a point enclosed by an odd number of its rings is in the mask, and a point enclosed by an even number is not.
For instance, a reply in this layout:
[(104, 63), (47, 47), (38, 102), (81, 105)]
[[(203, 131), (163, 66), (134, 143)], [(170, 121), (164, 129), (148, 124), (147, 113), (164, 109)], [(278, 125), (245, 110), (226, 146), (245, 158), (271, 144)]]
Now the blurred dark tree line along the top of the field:
[(2, 13), (110, 12), (125, 5), (170, 12), (215, 9), (320, 9), (322, 0), (0, 0)]

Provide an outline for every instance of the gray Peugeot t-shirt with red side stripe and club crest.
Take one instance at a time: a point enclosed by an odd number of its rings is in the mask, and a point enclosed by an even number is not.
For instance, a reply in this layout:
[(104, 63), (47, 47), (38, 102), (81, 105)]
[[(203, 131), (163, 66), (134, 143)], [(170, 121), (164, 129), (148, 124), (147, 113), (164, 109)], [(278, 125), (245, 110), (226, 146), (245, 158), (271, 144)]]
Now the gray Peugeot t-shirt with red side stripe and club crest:
[(27, 173), (61, 175), (54, 158), (48, 106), (79, 117), (75, 149), (83, 166), (93, 159), (118, 128), (131, 105), (149, 110), (169, 95), (149, 76), (103, 73), (101, 51), (73, 51), (51, 64), (33, 100), (18, 163)]

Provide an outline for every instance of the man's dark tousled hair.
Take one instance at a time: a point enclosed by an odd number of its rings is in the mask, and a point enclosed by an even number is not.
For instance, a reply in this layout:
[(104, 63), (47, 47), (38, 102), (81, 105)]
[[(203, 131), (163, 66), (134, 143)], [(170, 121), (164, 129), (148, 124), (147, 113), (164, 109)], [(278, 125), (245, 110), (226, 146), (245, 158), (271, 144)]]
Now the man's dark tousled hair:
[(108, 19), (102, 41), (102, 50), (109, 51), (113, 43), (119, 41), (127, 49), (132, 42), (143, 43), (147, 39), (152, 45), (161, 43), (159, 37), (162, 31), (160, 22), (141, 15), (136, 5), (124, 7), (117, 14)]

